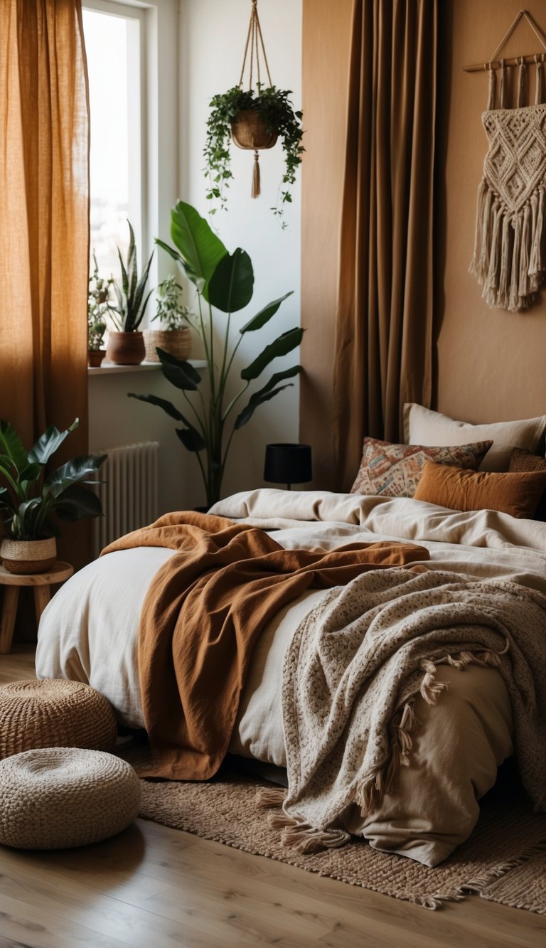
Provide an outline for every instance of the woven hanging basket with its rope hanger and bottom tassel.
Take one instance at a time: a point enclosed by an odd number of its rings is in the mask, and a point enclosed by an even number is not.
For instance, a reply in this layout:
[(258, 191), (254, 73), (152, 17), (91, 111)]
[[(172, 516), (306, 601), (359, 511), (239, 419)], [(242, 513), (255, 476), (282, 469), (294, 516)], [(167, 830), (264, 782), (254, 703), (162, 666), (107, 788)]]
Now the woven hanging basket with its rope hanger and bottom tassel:
[[(248, 91), (252, 90), (254, 80), (254, 66), (256, 66), (256, 87), (260, 90), (262, 85), (262, 70), (260, 60), (263, 59), (263, 68), (267, 74), (269, 86), (271, 75), (265, 53), (264, 36), (260, 26), (260, 17), (258, 16), (258, 0), (252, 0), (252, 9), (250, 10), (250, 23), (246, 34), (245, 55), (243, 56), (243, 65), (241, 67), (241, 77), (238, 87), (243, 88), (245, 80), (246, 62), (248, 61)], [(252, 197), (260, 195), (260, 151), (265, 148), (273, 148), (277, 141), (277, 132), (269, 128), (260, 113), (256, 109), (245, 109), (239, 112), (237, 118), (231, 123), (231, 137), (239, 148), (244, 148), (254, 152), (254, 169), (252, 173)]]

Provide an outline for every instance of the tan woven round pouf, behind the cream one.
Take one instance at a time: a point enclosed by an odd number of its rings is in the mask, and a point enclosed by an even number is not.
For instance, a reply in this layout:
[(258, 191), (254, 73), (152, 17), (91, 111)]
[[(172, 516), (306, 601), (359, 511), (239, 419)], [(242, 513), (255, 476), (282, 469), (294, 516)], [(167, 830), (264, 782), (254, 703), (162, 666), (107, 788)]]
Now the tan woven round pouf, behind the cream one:
[(89, 684), (45, 678), (0, 685), (0, 760), (34, 747), (109, 751), (117, 736), (111, 704)]

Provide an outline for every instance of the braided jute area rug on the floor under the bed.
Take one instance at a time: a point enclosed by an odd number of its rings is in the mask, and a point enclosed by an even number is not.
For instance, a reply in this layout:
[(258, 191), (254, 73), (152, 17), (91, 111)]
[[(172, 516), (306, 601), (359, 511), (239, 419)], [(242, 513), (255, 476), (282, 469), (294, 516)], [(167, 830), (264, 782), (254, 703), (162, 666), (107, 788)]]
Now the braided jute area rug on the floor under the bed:
[(362, 840), (313, 855), (283, 848), (267, 811), (256, 806), (264, 785), (237, 772), (221, 772), (207, 783), (142, 780), (139, 815), (425, 908), (474, 893), (546, 915), (546, 814), (533, 814), (522, 800), (488, 802), (470, 839), (441, 866), (428, 868)]

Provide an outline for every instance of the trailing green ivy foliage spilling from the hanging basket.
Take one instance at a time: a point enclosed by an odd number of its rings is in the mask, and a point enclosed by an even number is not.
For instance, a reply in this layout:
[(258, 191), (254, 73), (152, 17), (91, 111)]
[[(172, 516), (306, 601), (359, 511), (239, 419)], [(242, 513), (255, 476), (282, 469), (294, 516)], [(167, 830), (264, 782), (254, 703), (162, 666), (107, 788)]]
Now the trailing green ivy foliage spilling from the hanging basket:
[[(305, 151), (301, 144), (302, 113), (296, 112), (292, 107), (288, 98), (291, 95), (290, 89), (278, 89), (275, 85), (264, 87), (263, 83), (259, 82), (256, 89), (240, 89), (238, 85), (234, 85), (228, 92), (210, 100), (204, 155), (205, 171), (209, 178), (207, 198), (211, 203), (217, 201), (220, 208), (225, 210), (228, 202), (226, 191), (233, 177), (229, 151), (231, 122), (236, 120), (240, 112), (255, 109), (264, 119), (266, 129), (275, 132), (282, 142), (284, 173), (277, 204), (271, 208), (274, 214), (282, 218), (284, 205), (292, 201), (290, 188), (296, 181), (301, 154)], [(215, 210), (216, 208), (212, 207), (210, 213), (213, 214)], [(286, 227), (283, 221), (282, 227)]]

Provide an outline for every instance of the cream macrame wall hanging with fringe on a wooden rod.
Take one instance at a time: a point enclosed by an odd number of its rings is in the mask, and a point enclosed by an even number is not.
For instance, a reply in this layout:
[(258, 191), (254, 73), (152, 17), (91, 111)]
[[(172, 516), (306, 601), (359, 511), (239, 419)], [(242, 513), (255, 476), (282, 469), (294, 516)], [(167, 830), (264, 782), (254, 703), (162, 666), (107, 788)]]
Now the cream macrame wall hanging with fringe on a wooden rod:
[[(542, 51), (497, 61), (521, 17), (533, 28)], [(467, 72), (489, 72), (487, 108), (482, 114), (489, 148), (478, 189), (469, 270), (482, 284), (482, 298), (489, 306), (510, 312), (529, 306), (546, 277), (545, 52), (544, 35), (531, 14), (520, 10), (490, 60), (465, 67)], [(535, 69), (534, 105), (526, 104), (528, 64)], [(508, 91), (515, 69), (514, 105), (508, 101)]]

